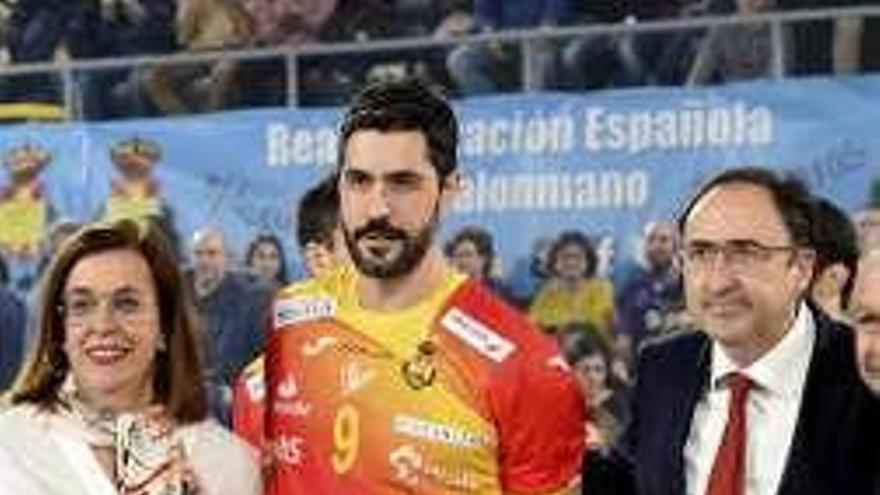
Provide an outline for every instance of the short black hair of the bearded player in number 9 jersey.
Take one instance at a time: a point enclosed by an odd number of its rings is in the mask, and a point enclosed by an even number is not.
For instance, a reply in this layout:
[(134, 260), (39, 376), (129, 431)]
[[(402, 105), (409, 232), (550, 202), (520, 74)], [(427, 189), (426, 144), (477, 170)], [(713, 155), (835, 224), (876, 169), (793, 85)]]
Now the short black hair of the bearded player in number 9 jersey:
[(368, 85), (352, 102), (340, 130), (339, 169), (345, 145), (359, 130), (421, 131), (441, 182), (458, 168), (458, 122), (446, 99), (418, 78), (381, 80)]

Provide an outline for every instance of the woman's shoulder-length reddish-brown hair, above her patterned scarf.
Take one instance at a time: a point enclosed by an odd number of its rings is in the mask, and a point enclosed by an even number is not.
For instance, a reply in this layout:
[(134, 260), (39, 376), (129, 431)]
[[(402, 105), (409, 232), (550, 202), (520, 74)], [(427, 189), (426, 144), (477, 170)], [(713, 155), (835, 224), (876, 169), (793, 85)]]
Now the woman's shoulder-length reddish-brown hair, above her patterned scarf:
[(59, 309), (63, 307), (64, 286), (81, 259), (114, 249), (139, 253), (156, 285), (160, 331), (167, 342), (167, 351), (156, 355), (156, 399), (177, 422), (203, 420), (208, 402), (199, 320), (170, 241), (150, 218), (87, 225), (61, 245), (42, 278), (37, 341), (13, 387), (12, 402), (50, 410), (58, 404), (59, 390), (70, 371), (63, 349), (64, 315)]

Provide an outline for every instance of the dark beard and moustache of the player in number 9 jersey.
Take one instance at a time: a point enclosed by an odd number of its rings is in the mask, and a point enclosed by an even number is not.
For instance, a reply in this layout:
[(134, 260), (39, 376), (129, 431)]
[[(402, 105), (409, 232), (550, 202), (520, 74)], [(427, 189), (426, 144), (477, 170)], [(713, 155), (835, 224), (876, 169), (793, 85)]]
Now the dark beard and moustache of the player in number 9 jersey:
[(425, 226), (412, 235), (394, 227), (387, 219), (371, 220), (354, 231), (344, 229), (345, 245), (362, 275), (386, 280), (398, 278), (412, 273), (425, 258), (434, 240), (436, 224), (436, 211)]

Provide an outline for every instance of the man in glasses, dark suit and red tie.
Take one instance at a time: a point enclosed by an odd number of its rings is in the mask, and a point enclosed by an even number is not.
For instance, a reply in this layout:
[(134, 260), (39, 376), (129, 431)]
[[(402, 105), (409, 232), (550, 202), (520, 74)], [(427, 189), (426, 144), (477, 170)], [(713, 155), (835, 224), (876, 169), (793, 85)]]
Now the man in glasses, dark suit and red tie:
[(738, 168), (679, 218), (699, 332), (648, 343), (621, 445), (639, 493), (870, 493), (880, 419), (850, 328), (807, 305), (813, 202), (798, 181)]

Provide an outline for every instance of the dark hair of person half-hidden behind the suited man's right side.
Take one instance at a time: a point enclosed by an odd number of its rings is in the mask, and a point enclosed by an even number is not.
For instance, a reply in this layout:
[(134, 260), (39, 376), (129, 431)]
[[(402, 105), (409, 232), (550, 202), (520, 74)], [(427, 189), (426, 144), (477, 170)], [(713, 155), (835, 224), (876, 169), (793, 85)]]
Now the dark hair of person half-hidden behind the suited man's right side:
[(823, 197), (815, 198), (816, 269), (818, 276), (831, 265), (840, 263), (849, 271), (849, 278), (840, 292), (843, 307), (849, 303), (859, 265), (859, 238), (849, 215)]

